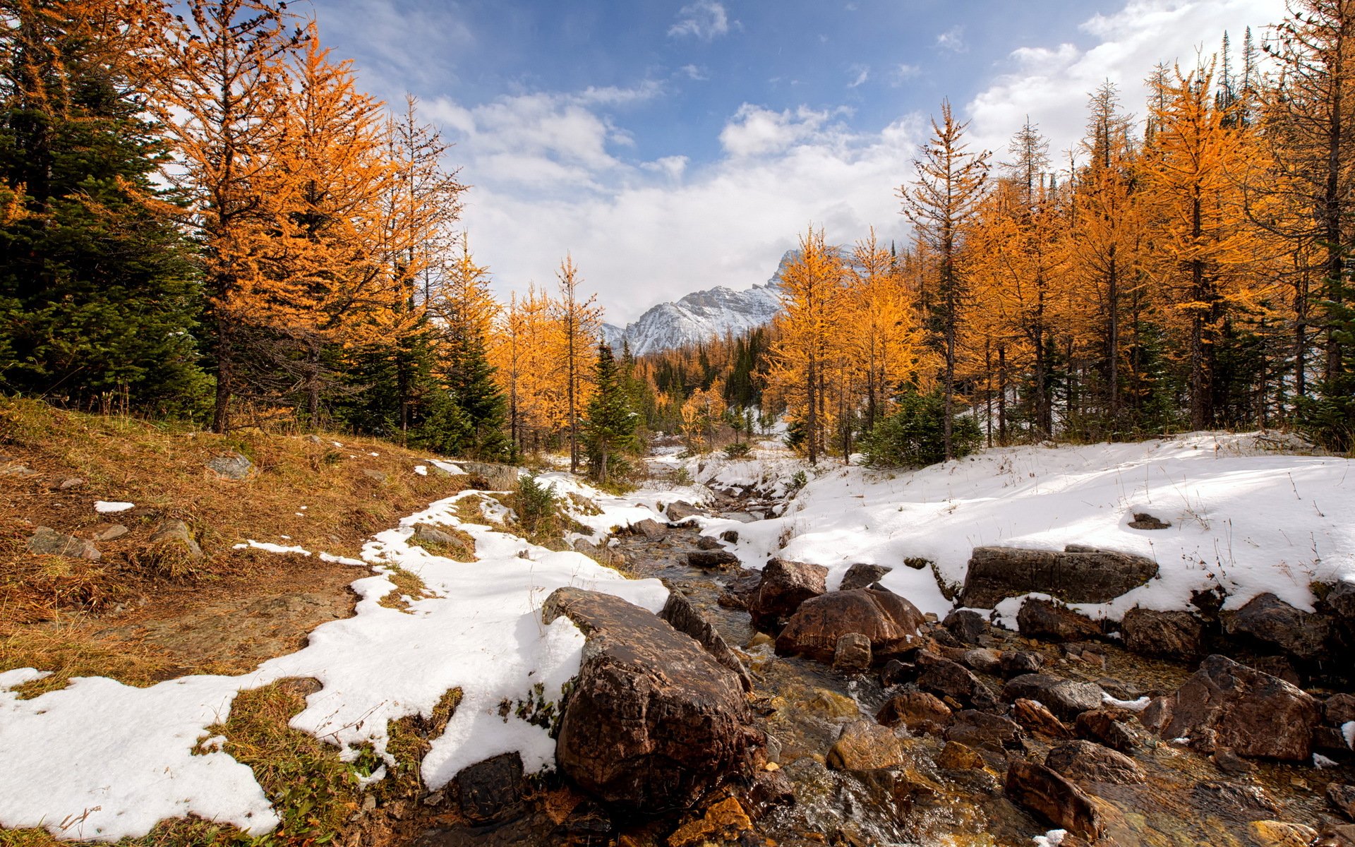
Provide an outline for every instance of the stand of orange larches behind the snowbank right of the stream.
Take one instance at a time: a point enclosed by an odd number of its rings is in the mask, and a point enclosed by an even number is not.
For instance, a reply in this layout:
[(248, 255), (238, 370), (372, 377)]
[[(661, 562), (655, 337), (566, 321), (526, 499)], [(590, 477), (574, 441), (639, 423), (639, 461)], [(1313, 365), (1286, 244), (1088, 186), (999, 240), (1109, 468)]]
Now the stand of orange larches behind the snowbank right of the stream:
[(810, 228), (767, 369), (808, 455), (898, 453), (901, 400), (940, 455), (1272, 426), (1348, 451), (1355, 3), (1295, 0), (1237, 53), (1159, 65), (1140, 121), (1102, 85), (1065, 164), (1030, 119), (970, 149), (943, 104), (898, 188), (913, 243)]

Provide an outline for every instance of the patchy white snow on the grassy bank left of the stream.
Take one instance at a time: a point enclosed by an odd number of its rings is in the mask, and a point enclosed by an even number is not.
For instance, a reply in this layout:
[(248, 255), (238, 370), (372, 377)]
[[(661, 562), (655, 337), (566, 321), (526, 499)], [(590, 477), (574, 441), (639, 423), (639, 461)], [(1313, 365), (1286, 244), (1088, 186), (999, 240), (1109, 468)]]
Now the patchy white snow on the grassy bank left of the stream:
[[(602, 507), (602, 514), (576, 515), (600, 531), (657, 518), (642, 501), (698, 493), (626, 499), (565, 474), (543, 478), (558, 493), (575, 492)], [(501, 752), (520, 752), (528, 771), (551, 767), (554, 741), (546, 730), (499, 714), (504, 698), (528, 699), (537, 683), (547, 699), (558, 699), (561, 686), (579, 672), (583, 636), (565, 618), (543, 625), (541, 604), (561, 585), (580, 585), (657, 611), (668, 591), (657, 580), (626, 580), (580, 553), (554, 553), (488, 524), (462, 523), (453, 510), (474, 496), (440, 500), (379, 533), (364, 546), (364, 562), (321, 553), (378, 571), (398, 566), (417, 575), (430, 596), (409, 598), (408, 611), (388, 608), (379, 602), (396, 584), (386, 576), (358, 579), (355, 617), (318, 626), (305, 649), (253, 674), (187, 676), (149, 688), (83, 678), (33, 699), (19, 699), (11, 688), (45, 674), (0, 674), (0, 825), (117, 840), (145, 835), (167, 817), (198, 814), (256, 835), (272, 829), (278, 817), (252, 771), (221, 752), (220, 743), (194, 749), (207, 726), (226, 720), (238, 691), (289, 676), (322, 683), (291, 725), (337, 744), (348, 758), (366, 744), (385, 755), (388, 721), (430, 716), (447, 690), (459, 687), (461, 705), (423, 762), (431, 787)], [(453, 561), (409, 545), (416, 523), (458, 526), (476, 539), (478, 561)], [(248, 546), (310, 554), (268, 542)]]

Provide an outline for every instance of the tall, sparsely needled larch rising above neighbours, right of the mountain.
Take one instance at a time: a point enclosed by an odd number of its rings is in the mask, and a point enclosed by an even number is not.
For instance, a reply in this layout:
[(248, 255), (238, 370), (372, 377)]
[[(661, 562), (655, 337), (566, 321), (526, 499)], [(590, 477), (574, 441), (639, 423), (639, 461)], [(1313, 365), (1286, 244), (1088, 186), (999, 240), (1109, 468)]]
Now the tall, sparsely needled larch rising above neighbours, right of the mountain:
[(944, 396), (944, 450), (953, 458), (951, 416), (955, 396), (957, 339), (965, 298), (962, 248), (965, 228), (974, 220), (988, 180), (988, 150), (970, 152), (965, 142), (967, 123), (957, 122), (950, 102), (940, 106), (940, 122), (932, 119), (932, 137), (913, 160), (916, 179), (898, 188), (904, 215), (927, 244), (936, 262), (936, 310), (939, 313)]

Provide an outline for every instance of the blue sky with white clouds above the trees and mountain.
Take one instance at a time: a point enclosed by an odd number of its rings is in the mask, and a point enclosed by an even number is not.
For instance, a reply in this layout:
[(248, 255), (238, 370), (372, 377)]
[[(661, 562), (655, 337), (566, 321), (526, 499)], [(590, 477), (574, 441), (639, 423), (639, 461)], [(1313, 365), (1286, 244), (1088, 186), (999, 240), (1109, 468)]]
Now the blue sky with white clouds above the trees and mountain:
[[(764, 283), (810, 225), (906, 239), (897, 190), (942, 99), (997, 161), (1030, 121), (1068, 167), (1088, 94), (1142, 115), (1157, 62), (1283, 0), (309, 0), (335, 56), (453, 142), (500, 295), (572, 255), (607, 320)], [(1236, 61), (1236, 57), (1234, 57)]]

